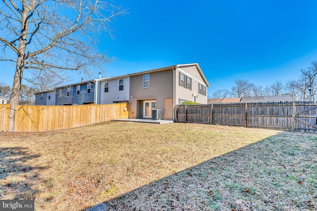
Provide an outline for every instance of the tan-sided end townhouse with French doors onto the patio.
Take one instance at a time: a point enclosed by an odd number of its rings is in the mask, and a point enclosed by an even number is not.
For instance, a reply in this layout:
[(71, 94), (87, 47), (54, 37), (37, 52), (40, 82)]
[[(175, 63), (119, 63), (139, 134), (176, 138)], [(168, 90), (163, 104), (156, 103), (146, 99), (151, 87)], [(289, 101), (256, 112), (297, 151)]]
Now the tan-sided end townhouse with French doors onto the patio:
[(185, 101), (207, 104), (207, 82), (198, 63), (181, 64), (128, 74), (130, 76), (129, 118), (152, 118), (152, 110), (161, 110), (161, 118), (174, 120), (175, 105)]

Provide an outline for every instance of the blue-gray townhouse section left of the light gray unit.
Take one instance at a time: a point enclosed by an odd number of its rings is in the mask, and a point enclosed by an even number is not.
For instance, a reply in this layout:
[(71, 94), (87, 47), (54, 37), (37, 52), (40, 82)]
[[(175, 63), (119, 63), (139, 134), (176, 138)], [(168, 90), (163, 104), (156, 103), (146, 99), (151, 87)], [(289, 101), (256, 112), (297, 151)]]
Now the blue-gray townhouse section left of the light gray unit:
[(56, 105), (85, 105), (95, 102), (95, 81), (56, 88)]

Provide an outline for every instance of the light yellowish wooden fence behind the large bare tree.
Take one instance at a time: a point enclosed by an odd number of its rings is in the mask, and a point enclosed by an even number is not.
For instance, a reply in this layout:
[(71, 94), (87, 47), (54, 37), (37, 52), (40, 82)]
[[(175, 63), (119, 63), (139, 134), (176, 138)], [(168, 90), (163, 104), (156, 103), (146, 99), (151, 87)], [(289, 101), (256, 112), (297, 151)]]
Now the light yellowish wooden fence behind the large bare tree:
[[(129, 103), (76, 106), (19, 105), (15, 113), (15, 132), (40, 132), (82, 127), (129, 118)], [(8, 131), (10, 105), (0, 105), (0, 131)]]

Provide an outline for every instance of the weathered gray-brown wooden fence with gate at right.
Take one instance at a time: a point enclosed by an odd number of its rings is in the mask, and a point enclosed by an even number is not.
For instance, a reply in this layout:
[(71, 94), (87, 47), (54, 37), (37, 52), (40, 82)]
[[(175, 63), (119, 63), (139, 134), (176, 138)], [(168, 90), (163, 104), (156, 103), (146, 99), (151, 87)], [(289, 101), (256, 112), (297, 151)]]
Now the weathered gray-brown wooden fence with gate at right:
[(177, 105), (176, 122), (317, 132), (314, 102)]

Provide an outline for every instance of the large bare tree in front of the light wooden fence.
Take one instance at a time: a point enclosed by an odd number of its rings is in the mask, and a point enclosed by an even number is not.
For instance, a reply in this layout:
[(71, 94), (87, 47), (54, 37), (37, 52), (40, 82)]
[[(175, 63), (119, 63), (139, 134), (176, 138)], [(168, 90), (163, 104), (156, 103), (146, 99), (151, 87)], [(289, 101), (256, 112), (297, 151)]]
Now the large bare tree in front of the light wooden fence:
[[(24, 70), (86, 73), (111, 58), (96, 51), (99, 35), (126, 10), (106, 0), (2, 0), (0, 60), (16, 64), (10, 96), (9, 131), (19, 103)], [(111, 36), (111, 35), (110, 35)], [(63, 75), (63, 74), (62, 74)]]

